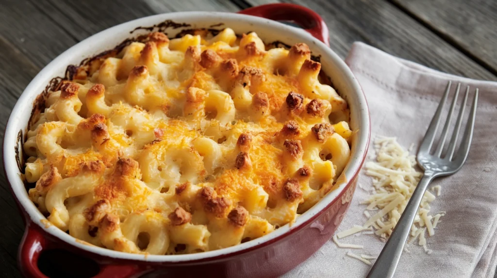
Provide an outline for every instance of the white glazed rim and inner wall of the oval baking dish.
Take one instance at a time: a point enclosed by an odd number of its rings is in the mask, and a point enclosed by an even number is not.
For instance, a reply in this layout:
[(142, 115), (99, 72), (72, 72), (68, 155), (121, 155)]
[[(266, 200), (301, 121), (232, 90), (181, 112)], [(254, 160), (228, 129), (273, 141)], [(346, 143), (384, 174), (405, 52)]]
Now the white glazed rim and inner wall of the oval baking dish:
[[(325, 44), (315, 39), (303, 30), (290, 27), (272, 20), (240, 15), (235, 13), (222, 13), (222, 12), (177, 12), (168, 14), (159, 14), (150, 17), (145, 17), (133, 20), (121, 25), (104, 30), (96, 35), (93, 35), (74, 47), (70, 48), (51, 63), (49, 63), (26, 87), (15, 107), (12, 110), (10, 118), (5, 130), (5, 137), (3, 143), (4, 154), (4, 167), (7, 178), (12, 186), (13, 192), (19, 199), (21, 205), (25, 208), (29, 217), (33, 222), (46, 229), (52, 235), (64, 240), (65, 242), (77, 246), (83, 250), (98, 253), (104, 256), (121, 259), (144, 260), (149, 262), (181, 262), (191, 261), (197, 259), (206, 259), (210, 257), (217, 257), (226, 255), (233, 252), (242, 251), (251, 248), (255, 245), (269, 241), (274, 238), (281, 237), (285, 233), (293, 229), (298, 229), (303, 223), (307, 222), (310, 218), (322, 211), (327, 205), (335, 199), (336, 196), (343, 190), (346, 183), (339, 186), (338, 189), (330, 192), (319, 203), (312, 207), (305, 214), (299, 216), (297, 221), (289, 225), (280, 227), (279, 229), (271, 232), (263, 237), (248, 241), (246, 243), (215, 250), (205, 253), (187, 254), (187, 255), (139, 255), (128, 254), (118, 251), (108, 250), (96, 246), (90, 246), (80, 243), (69, 234), (56, 228), (53, 225), (45, 227), (41, 220), (45, 217), (38, 211), (34, 204), (29, 200), (24, 184), (19, 178), (19, 169), (16, 165), (15, 147), (16, 137), (19, 130), (25, 130), (29, 120), (30, 112), (33, 102), (37, 95), (39, 95), (49, 83), (49, 81), (56, 76), (63, 76), (67, 65), (79, 64), (81, 60), (101, 53), (102, 51), (112, 49), (125, 39), (130, 37), (130, 31), (138, 26), (152, 26), (154, 24), (163, 22), (170, 19), (175, 22), (185, 22), (191, 24), (189, 28), (208, 28), (209, 26), (217, 23), (224, 23), (225, 25), (216, 28), (230, 27), (237, 34), (254, 31), (265, 42), (281, 41), (288, 45), (304, 42), (309, 45), (313, 55), (320, 55), (322, 68), (331, 77), (334, 87), (338, 92), (347, 100), (351, 109), (351, 129), (358, 130), (352, 142), (352, 156), (347, 167), (345, 167), (343, 174), (346, 177), (352, 177), (359, 170), (361, 161), (365, 150), (367, 148), (369, 138), (369, 112), (364, 95), (361, 88), (357, 83), (355, 77), (347, 65)], [(181, 29), (167, 30), (169, 36), (174, 36)], [(146, 31), (139, 31), (133, 33), (138, 35), (146, 33)]]

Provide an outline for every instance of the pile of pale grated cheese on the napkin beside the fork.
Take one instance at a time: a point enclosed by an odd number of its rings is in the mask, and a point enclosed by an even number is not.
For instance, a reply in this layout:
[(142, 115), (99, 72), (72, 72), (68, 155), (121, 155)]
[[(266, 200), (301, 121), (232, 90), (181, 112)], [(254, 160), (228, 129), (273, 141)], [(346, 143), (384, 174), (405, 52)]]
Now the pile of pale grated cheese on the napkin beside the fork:
[[(410, 149), (412, 148), (413, 146)], [(347, 248), (345, 246), (352, 245), (354, 246), (352, 248), (357, 248), (357, 246), (361, 246), (338, 243), (338, 238), (371, 230), (371, 227), (374, 228), (374, 234), (386, 240), (399, 221), (421, 178), (422, 173), (415, 169), (416, 161), (414, 155), (410, 155), (409, 151), (405, 151), (399, 145), (396, 138), (379, 137), (374, 142), (374, 149), (376, 152), (376, 161), (367, 162), (365, 167), (366, 175), (373, 178), (373, 189), (371, 195), (361, 202), (361, 204), (367, 205), (364, 216), (368, 220), (362, 226), (354, 225), (347, 230), (337, 233), (333, 241), (338, 247)], [(436, 196), (440, 196), (441, 188), (439, 185), (433, 186), (432, 190)], [(411, 227), (410, 238), (408, 239), (408, 243), (417, 240), (417, 244), (423, 246), (427, 254), (431, 254), (432, 251), (426, 246), (425, 233), (427, 232), (429, 236), (432, 236), (435, 233), (434, 228), (440, 222), (440, 217), (445, 215), (445, 212), (431, 215), (430, 203), (435, 198), (435, 195), (429, 191), (424, 193), (421, 205), (414, 219), (414, 224)], [(347, 256), (363, 262), (367, 261), (365, 256), (357, 258), (358, 256), (351, 256), (348, 253)]]

